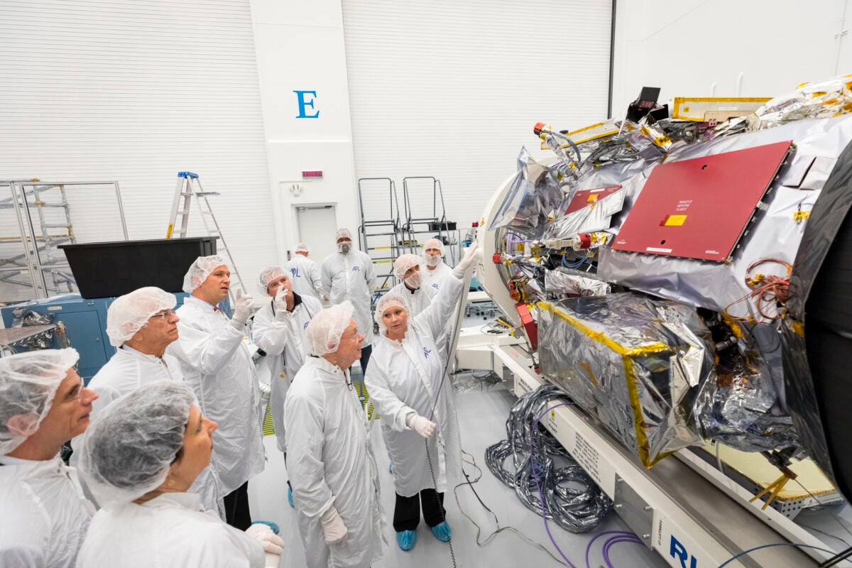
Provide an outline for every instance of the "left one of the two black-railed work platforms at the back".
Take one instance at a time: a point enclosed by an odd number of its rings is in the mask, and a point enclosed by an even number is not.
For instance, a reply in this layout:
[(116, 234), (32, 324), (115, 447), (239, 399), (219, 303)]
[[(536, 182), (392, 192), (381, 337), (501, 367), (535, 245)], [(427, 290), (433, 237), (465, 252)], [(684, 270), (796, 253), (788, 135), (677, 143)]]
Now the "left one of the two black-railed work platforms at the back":
[[(388, 198), (387, 209), (376, 206), (375, 202), (385, 196)], [(376, 265), (377, 293), (381, 295), (396, 285), (394, 260), (405, 252), (400, 246), (400, 203), (396, 197), (396, 184), (389, 177), (360, 178), (358, 204), (361, 215), (358, 227), (360, 248)]]

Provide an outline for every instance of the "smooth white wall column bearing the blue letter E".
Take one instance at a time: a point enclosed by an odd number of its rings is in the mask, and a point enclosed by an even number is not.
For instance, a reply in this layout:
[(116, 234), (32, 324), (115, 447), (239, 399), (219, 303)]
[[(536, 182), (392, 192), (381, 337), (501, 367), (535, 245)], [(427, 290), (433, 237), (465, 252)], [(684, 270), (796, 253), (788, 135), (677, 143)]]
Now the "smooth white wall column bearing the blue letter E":
[[(260, 73), (263, 122), (276, 219), (279, 260), (298, 242), (293, 209), (305, 204), (336, 204), (337, 226), (357, 227), (352, 133), (343, 18), (340, 0), (313, 3), (250, 0)], [(318, 118), (300, 114), (295, 90), (315, 91)], [(322, 170), (321, 180), (302, 180), (303, 170)], [(301, 195), (289, 187), (298, 182)], [(330, 242), (334, 234), (328, 235)], [(308, 243), (314, 250), (321, 244)], [(321, 261), (321, 255), (312, 255)]]

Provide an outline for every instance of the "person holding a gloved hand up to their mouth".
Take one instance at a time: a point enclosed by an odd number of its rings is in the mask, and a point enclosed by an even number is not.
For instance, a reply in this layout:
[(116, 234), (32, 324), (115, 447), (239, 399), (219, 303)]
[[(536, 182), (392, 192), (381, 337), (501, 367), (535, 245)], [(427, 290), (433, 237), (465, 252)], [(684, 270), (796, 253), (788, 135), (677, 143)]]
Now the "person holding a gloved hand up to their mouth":
[[(266, 267), (257, 278), (257, 287), (272, 300), (255, 314), (252, 336), (257, 347), (266, 352), (262, 364), (270, 374), (272, 421), (278, 449), (287, 445), (284, 435), (284, 399), (293, 377), (308, 357), (308, 324), (322, 310), (322, 304), (309, 295), (291, 289), (292, 279), (282, 267)], [(287, 482), (287, 499), (293, 504), (293, 492)]]

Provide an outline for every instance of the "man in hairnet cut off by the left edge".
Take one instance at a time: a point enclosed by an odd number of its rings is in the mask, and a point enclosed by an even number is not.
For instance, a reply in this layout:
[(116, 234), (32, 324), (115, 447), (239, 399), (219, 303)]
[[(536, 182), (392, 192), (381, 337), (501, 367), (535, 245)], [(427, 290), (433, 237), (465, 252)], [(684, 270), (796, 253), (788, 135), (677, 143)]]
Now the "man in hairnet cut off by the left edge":
[(0, 566), (70, 568), (95, 513), (60, 459), (98, 396), (78, 358), (46, 349), (0, 359)]

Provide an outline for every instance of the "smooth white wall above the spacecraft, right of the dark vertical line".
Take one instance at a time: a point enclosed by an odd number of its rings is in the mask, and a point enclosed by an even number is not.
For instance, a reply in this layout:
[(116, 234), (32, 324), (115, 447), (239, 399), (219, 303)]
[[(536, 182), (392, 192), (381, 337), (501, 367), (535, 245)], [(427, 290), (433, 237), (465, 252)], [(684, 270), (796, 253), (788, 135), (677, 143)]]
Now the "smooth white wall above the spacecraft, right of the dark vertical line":
[[(845, 16), (845, 17), (844, 17)], [(852, 73), (852, 0), (629, 0), (616, 9), (613, 115), (642, 86), (773, 97)]]

